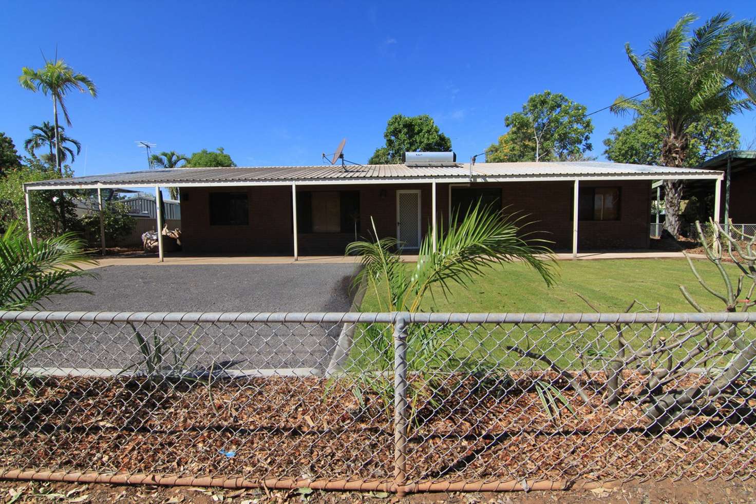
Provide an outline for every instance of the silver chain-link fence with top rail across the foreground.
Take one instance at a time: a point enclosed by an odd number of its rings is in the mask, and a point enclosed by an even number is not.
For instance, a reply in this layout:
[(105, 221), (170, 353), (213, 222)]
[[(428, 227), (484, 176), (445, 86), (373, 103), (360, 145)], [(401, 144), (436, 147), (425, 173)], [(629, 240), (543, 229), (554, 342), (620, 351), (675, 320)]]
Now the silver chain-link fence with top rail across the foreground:
[(754, 323), (0, 312), (0, 477), (398, 493), (745, 479)]

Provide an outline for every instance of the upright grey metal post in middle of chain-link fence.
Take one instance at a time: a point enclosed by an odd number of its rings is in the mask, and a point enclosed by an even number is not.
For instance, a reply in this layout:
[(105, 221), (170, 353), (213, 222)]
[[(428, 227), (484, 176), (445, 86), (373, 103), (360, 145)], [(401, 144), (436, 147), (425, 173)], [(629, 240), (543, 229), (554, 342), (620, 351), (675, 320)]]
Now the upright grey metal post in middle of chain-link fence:
[(394, 484), (404, 496), (407, 483), (407, 328), (409, 314), (394, 322)]

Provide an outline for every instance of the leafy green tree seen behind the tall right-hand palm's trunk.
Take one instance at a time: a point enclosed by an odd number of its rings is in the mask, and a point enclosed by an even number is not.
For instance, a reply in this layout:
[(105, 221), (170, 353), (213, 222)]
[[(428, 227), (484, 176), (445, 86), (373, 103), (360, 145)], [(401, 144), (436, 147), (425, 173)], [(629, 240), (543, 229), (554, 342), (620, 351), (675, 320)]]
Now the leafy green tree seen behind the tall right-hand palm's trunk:
[[(737, 149), (740, 133), (723, 114), (705, 116), (687, 129), (690, 137), (684, 164), (694, 167), (727, 150)], [(636, 116), (621, 129), (612, 128), (604, 139), (604, 155), (613, 162), (658, 165), (662, 162), (665, 138), (664, 118), (659, 113)]]

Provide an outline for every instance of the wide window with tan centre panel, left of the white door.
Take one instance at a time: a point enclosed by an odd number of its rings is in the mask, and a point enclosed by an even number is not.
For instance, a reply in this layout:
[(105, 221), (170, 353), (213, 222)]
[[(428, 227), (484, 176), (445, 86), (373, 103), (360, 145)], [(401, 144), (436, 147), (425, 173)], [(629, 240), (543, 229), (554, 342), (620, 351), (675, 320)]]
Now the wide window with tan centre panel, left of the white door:
[(360, 192), (300, 191), (296, 193), (299, 233), (354, 233), (360, 231)]

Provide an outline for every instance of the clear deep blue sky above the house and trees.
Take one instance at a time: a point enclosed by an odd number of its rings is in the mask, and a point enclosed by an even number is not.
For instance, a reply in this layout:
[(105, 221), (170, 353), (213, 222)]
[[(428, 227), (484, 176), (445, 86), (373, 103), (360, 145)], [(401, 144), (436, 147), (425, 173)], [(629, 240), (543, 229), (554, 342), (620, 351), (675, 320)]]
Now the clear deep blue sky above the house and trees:
[[(750, 7), (750, 8), (749, 8)], [(395, 113), (430, 114), (460, 159), (549, 89), (589, 111), (643, 91), (644, 51), (682, 14), (754, 16), (752, 2), (8, 2), (0, 18), (0, 131), (21, 150), (51, 100), (17, 84), (58, 55), (98, 84), (68, 100), (76, 175), (145, 169), (144, 151), (225, 147), (237, 165), (320, 164), (341, 138), (366, 162)], [(593, 153), (613, 126), (594, 116)], [(734, 116), (743, 146), (756, 113)]]

